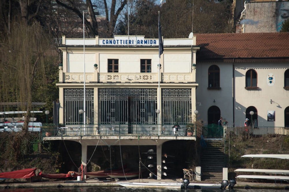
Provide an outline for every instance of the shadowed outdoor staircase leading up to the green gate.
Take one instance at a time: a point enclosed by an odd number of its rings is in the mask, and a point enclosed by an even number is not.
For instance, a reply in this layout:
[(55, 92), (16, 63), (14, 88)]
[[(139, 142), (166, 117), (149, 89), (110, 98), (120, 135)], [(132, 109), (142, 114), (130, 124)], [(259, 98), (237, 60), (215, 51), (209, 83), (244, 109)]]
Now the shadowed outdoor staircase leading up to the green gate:
[(223, 139), (205, 139), (206, 148), (201, 148), (202, 180), (223, 180), (225, 146)]

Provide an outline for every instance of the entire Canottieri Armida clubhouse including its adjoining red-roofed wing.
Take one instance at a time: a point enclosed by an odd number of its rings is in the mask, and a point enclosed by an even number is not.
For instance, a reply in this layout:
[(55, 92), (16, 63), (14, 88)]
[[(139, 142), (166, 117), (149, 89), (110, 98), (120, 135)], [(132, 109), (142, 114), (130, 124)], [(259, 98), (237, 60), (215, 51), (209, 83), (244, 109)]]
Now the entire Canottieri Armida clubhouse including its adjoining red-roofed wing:
[(161, 179), (162, 143), (200, 137), (197, 130), (186, 136), (196, 118), (206, 126), (222, 116), (230, 127), (249, 118), (255, 133), (289, 126), (289, 33), (196, 34), (163, 44), (159, 58), (158, 39), (62, 38), (61, 139), (81, 143), (83, 165), (96, 139), (108, 146), (141, 140), (156, 147)]

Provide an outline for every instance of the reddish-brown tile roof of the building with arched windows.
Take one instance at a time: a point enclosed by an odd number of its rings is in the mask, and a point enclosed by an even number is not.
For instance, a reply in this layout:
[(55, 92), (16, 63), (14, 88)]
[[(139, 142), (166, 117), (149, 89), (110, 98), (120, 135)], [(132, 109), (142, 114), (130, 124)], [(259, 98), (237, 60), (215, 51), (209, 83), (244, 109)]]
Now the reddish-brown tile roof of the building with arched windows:
[(197, 59), (289, 58), (288, 33), (207, 33), (197, 38)]

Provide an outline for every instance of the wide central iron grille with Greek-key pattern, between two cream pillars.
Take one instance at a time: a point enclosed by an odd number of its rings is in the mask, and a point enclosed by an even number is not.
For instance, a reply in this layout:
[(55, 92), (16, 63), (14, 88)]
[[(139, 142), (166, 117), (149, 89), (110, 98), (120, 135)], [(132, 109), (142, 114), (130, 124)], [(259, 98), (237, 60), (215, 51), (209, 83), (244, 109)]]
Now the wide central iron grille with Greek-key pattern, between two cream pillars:
[(157, 124), (157, 89), (99, 89), (100, 124)]

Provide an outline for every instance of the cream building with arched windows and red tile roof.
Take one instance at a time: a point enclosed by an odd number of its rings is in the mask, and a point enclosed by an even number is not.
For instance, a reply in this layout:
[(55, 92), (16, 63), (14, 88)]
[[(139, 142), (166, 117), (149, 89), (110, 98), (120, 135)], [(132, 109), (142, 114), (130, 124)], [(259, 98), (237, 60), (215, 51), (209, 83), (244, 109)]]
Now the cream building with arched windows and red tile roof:
[[(289, 126), (289, 33), (197, 34), (200, 118), (228, 126)], [(253, 115), (250, 115), (253, 111)]]

